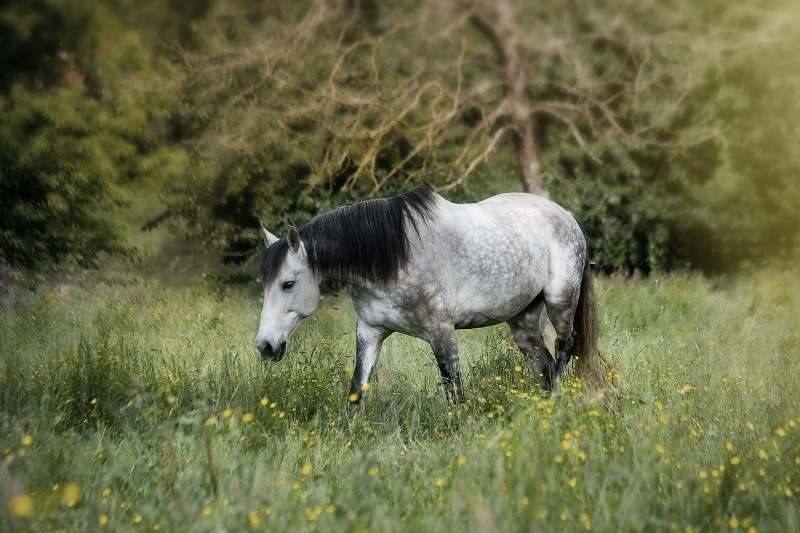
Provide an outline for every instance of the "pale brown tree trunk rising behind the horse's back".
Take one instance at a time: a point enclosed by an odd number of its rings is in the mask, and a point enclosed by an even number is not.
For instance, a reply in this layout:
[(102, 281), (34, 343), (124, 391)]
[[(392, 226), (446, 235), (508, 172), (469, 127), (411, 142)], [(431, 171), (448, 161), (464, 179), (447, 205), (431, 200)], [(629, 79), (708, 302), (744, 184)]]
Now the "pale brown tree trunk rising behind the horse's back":
[(548, 196), (528, 100), (528, 74), (519, 45), (519, 29), (514, 24), (511, 0), (480, 4), (473, 20), (492, 41), (503, 68), (503, 105), (514, 132), (522, 188), (525, 192)]

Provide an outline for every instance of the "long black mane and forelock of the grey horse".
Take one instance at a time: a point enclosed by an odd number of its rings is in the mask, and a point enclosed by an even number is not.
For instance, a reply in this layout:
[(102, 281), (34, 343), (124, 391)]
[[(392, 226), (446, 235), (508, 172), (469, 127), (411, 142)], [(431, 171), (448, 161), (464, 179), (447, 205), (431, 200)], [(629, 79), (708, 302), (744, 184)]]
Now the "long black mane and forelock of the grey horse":
[[(407, 226), (419, 234), (417, 224), (430, 220), (435, 199), (434, 191), (423, 185), (397, 196), (358, 202), (314, 217), (297, 230), (311, 268), (329, 280), (395, 279), (408, 263)], [(277, 276), (288, 251), (286, 237), (267, 249), (263, 275), (268, 285)]]

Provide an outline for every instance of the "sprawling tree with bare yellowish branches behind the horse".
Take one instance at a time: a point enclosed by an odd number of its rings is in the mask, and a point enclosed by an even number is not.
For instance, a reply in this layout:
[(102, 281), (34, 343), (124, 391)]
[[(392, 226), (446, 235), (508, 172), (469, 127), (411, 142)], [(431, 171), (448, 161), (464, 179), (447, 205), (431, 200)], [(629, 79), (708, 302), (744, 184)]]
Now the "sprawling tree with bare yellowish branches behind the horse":
[[(171, 213), (194, 237), (246, 253), (259, 219), (303, 220), (414, 181), (459, 195), (492, 172), (490, 157), (513, 157), (523, 190), (551, 189), (586, 219), (604, 263), (665, 266), (668, 207), (644, 203), (675, 198), (683, 185), (665, 161), (713, 136), (687, 109), (731, 43), (701, 11), (217, 2), (198, 29), (204, 45), (185, 56), (181, 123), (196, 164), (171, 188)], [(641, 209), (614, 189), (645, 191)], [(612, 245), (614, 226), (626, 237)]]

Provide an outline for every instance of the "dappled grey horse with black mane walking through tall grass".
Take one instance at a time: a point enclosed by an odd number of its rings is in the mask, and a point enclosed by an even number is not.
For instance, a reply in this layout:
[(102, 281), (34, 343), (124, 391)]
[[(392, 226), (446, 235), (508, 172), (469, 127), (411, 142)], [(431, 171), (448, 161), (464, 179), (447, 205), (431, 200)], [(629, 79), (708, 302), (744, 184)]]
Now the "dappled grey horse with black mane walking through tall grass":
[[(357, 325), (348, 399), (356, 413), (395, 332), (430, 344), (454, 401), (464, 397), (456, 330), (502, 322), (547, 393), (575, 352), (576, 374), (604, 379), (586, 238), (572, 214), (544, 197), (456, 204), (419, 186), (333, 209), (283, 238), (261, 230), (261, 358), (283, 358), (324, 287), (349, 287)], [(555, 356), (540, 330), (543, 313), (556, 332)]]

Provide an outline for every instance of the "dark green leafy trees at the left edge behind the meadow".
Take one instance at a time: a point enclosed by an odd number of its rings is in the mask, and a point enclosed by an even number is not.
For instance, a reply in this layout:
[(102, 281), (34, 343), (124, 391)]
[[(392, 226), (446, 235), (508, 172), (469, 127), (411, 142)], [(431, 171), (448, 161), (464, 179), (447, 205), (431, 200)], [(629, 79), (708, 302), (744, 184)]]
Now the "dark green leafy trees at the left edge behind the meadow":
[(158, 79), (151, 51), (105, 4), (12, 3), (0, 20), (14, 30), (2, 58), (13, 84), (0, 86), (0, 257), (44, 268), (126, 252), (115, 208), (184, 166), (158, 127), (170, 98), (137, 87)]

